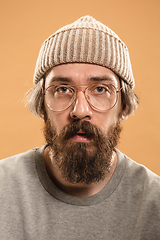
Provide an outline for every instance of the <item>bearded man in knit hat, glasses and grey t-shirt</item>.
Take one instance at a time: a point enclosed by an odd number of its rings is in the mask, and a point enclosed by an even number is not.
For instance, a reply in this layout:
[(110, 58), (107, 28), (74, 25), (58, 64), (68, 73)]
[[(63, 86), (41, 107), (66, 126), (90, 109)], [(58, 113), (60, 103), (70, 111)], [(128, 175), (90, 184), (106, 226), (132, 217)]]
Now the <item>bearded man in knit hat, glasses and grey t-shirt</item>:
[(46, 145), (0, 161), (0, 239), (160, 239), (160, 178), (115, 148), (138, 105), (126, 45), (82, 17), (43, 43), (34, 84)]

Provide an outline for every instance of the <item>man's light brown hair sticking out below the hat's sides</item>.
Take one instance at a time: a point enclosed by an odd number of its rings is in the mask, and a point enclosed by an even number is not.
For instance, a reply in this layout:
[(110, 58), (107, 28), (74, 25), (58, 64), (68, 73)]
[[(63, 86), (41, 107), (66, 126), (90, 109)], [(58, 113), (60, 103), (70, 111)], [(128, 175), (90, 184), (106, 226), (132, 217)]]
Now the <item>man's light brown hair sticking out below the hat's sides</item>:
[[(36, 116), (42, 117), (44, 113), (44, 87), (45, 77), (42, 77), (40, 81), (28, 91), (26, 94), (26, 105), (28, 105), (29, 110)], [(139, 99), (134, 91), (131, 89), (128, 83), (120, 79), (121, 90), (121, 102), (122, 102), (122, 112), (127, 117), (133, 114), (135, 109), (139, 104)]]

